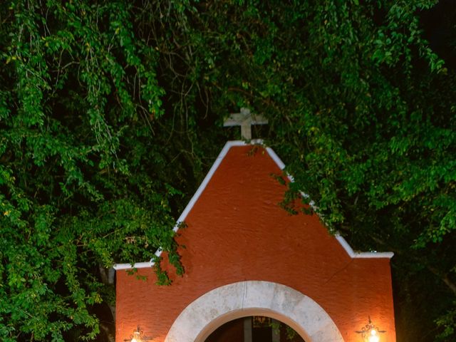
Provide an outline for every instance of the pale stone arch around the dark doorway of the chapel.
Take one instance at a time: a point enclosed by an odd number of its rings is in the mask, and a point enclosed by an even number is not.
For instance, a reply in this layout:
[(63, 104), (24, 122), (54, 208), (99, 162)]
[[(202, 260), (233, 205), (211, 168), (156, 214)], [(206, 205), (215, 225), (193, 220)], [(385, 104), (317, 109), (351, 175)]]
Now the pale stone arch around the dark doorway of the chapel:
[(269, 281), (239, 281), (200, 296), (172, 323), (165, 342), (204, 342), (222, 324), (245, 316), (275, 318), (306, 342), (343, 342), (336, 324), (316, 301)]

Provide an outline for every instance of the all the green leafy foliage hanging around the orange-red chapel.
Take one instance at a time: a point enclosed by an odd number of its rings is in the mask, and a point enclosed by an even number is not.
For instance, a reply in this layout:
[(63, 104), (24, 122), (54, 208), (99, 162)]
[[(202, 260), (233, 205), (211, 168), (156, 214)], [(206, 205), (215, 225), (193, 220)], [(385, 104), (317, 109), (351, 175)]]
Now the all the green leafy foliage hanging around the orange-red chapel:
[(1, 4), (1, 338), (97, 336), (115, 261), (161, 247), (182, 272), (173, 217), (242, 106), (294, 176), (284, 207), (304, 191), (331, 232), (396, 253), (398, 338), (454, 338), (455, 69), (424, 38), (435, 3)]

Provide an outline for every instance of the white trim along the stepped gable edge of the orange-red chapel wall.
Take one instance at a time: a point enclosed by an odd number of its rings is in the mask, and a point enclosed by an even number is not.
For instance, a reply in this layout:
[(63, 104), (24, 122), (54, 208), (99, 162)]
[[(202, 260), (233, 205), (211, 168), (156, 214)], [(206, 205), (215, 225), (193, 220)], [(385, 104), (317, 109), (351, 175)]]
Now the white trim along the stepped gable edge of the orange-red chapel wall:
[[(177, 230), (180, 227), (180, 224), (182, 222), (185, 222), (185, 218), (187, 217), (187, 214), (190, 212), (190, 210), (193, 209), (193, 206), (195, 205), (195, 203), (199, 199), (199, 196), (202, 194), (202, 192), (206, 188), (207, 184), (209, 183), (209, 180), (211, 180), (212, 175), (214, 175), (214, 172), (217, 170), (220, 163), (222, 162), (224, 157), (227, 155), (229, 149), (233, 146), (244, 146), (244, 145), (255, 145), (255, 144), (263, 145), (263, 140), (255, 139), (255, 140), (251, 140), (250, 143), (244, 142), (242, 140), (234, 140), (234, 141), (228, 141), (224, 145), (222, 151), (220, 152), (219, 156), (217, 157), (214, 164), (210, 168), (209, 172), (207, 172), (206, 177), (204, 177), (204, 180), (202, 181), (201, 185), (199, 185), (198, 190), (195, 192), (195, 195), (193, 195), (192, 199), (190, 199), (190, 202), (188, 202), (187, 207), (185, 207), (184, 211), (182, 212), (182, 214), (180, 214), (180, 217), (177, 219), (177, 222), (176, 222), (174, 228), (172, 229), (174, 232), (177, 232)], [(268, 152), (268, 154), (272, 158), (272, 160), (274, 160), (276, 165), (280, 168), (280, 170), (284, 170), (285, 164), (284, 164), (284, 162), (281, 161), (279, 156), (276, 155), (276, 152), (274, 152), (274, 150), (272, 150), (271, 147), (266, 147), (266, 151)], [(293, 182), (293, 177), (291, 177), (290, 175), (288, 175), (288, 177), (289, 177), (289, 180), (291, 182)], [(305, 193), (301, 193), (301, 195), (304, 197), (309, 197), (309, 195), (307, 195)], [(314, 201), (311, 201), (309, 204), (312, 207), (314, 207)], [(350, 247), (348, 242), (346, 242), (346, 239), (343, 239), (343, 237), (341, 237), (341, 235), (336, 234), (336, 239), (342, 245), (343, 249), (346, 250), (347, 254), (352, 258), (388, 258), (388, 259), (390, 259), (394, 255), (394, 253), (392, 253), (392, 252), (381, 252), (381, 253), (379, 253), (379, 252), (353, 252), (353, 249)], [(157, 257), (160, 257), (161, 254), (162, 254), (162, 249), (157, 249), (157, 252), (155, 252), (155, 255)], [(153, 265), (154, 265), (154, 262), (152, 260), (150, 260), (150, 261), (145, 261), (145, 262), (137, 262), (133, 265), (132, 264), (115, 264), (113, 266), (113, 268), (115, 270), (133, 269), (133, 268), (142, 269), (142, 268), (146, 268), (146, 267), (152, 267)]]

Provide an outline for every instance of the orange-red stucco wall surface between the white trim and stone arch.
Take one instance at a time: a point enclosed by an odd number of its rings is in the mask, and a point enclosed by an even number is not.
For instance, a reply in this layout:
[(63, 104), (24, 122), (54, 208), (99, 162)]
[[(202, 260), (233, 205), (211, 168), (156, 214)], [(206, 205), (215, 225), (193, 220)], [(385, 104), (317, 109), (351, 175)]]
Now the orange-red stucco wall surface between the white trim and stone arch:
[[(212, 289), (237, 281), (262, 280), (290, 286), (316, 301), (346, 342), (368, 316), (395, 342), (389, 259), (352, 259), (316, 215), (291, 216), (277, 204), (285, 187), (271, 174), (281, 170), (261, 148), (231, 147), (195, 206), (177, 241), (185, 274), (172, 286), (156, 286), (117, 272), (116, 341), (139, 325), (152, 341), (164, 341), (180, 312)], [(167, 268), (166, 263), (164, 263)], [(170, 274), (173, 274), (172, 268)]]

